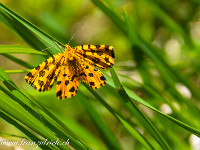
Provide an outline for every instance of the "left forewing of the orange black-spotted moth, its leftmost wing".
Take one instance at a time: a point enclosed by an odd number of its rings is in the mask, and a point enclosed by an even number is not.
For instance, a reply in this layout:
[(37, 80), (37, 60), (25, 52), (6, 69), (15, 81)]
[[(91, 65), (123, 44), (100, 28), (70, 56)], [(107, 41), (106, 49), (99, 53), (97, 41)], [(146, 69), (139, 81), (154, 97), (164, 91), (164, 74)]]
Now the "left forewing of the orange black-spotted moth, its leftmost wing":
[(53, 55), (32, 69), (25, 76), (25, 81), (39, 92), (50, 90), (60, 72), (59, 66), (62, 63), (62, 59), (62, 53)]

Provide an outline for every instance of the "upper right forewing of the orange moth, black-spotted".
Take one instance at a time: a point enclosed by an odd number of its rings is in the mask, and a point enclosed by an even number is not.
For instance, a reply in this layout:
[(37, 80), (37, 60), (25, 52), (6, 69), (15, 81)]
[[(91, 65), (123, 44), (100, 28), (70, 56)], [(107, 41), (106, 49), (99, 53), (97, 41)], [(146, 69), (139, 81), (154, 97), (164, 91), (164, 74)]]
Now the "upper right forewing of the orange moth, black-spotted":
[(114, 64), (114, 49), (109, 45), (80, 45), (75, 47), (78, 57), (101, 69), (108, 69)]

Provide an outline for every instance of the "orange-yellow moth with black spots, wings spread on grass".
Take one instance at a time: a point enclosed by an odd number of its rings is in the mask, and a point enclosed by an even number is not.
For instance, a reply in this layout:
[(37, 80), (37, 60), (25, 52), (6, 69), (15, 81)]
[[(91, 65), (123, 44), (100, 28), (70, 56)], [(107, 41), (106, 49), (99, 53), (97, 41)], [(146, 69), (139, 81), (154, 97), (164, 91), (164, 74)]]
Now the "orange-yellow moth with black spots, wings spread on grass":
[(48, 58), (32, 69), (25, 81), (39, 92), (50, 90), (56, 83), (56, 96), (66, 99), (75, 96), (80, 82), (97, 89), (106, 84), (98, 68), (106, 70), (114, 64), (114, 48), (109, 45), (65, 45), (65, 51)]

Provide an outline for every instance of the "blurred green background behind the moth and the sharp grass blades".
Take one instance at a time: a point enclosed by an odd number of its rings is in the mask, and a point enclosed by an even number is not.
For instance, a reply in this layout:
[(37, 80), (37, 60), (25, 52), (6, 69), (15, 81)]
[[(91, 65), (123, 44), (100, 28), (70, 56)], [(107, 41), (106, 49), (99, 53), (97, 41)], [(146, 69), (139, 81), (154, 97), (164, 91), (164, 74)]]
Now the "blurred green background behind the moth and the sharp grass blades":
[[(167, 145), (171, 149), (199, 149), (200, 2), (198, 0), (101, 1), (110, 12), (99, 5), (98, 0), (1, 0), (1, 2), (63, 44), (67, 44), (74, 36), (70, 41), (71, 46), (112, 45), (116, 57), (114, 67), (122, 85), (153, 108), (198, 131), (195, 136), (192, 129), (183, 129), (181, 125), (142, 105), (140, 100), (135, 102), (162, 135)], [(0, 24), (0, 44), (30, 47), (5, 24)], [(46, 59), (42, 55), (12, 55), (33, 66)], [(26, 69), (4, 56), (0, 56), (0, 67), (4, 70)], [(106, 73), (110, 75), (109, 71)], [(111, 149), (108, 146), (109, 142), (106, 143), (101, 135), (102, 130), (99, 129), (97, 122), (94, 123), (91, 114), (88, 113), (87, 109), (90, 107), (86, 107), (87, 104), (82, 102), (83, 95), (113, 133), (119, 149), (147, 148), (130, 134), (125, 125), (99, 103), (84, 85), (80, 85), (75, 97), (61, 101), (56, 98), (55, 86), (48, 92), (40, 93), (25, 83), (25, 73), (14, 73), (9, 76), (20, 89), (30, 93), (43, 107), (59, 116), (92, 148)], [(151, 137), (150, 130), (148, 131), (138, 116), (135, 116), (134, 111), (123, 103), (116, 91), (117, 88), (111, 88), (110, 85), (95, 90), (141, 133), (152, 145), (152, 149), (167, 149), (161, 148)], [(12, 134), (23, 136), (4, 120), (0, 120), (0, 133), (4, 140), (21, 141)], [(5, 145), (1, 144), (0, 149), (4, 149), (3, 146)], [(16, 146), (5, 147), (5, 149), (15, 148)], [(33, 146), (21, 148), (32, 149)]]

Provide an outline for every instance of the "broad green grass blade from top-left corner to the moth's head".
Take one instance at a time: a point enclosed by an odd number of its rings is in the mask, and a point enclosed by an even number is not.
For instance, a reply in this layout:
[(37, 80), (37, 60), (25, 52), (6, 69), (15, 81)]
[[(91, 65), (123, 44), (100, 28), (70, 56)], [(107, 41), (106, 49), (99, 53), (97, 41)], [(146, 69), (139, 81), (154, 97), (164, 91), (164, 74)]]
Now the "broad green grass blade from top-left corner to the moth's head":
[[(20, 35), (28, 44), (37, 50), (55, 46), (54, 48), (49, 48), (47, 52), (50, 52), (52, 55), (60, 51), (54, 41), (62, 45), (60, 42), (38, 29), (35, 25), (28, 22), (26, 19), (22, 18), (2, 3), (0, 3), (0, 21), (17, 32), (17, 34)], [(40, 39), (36, 37), (36, 35)]]

